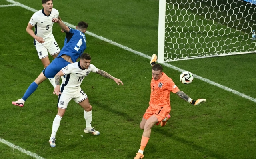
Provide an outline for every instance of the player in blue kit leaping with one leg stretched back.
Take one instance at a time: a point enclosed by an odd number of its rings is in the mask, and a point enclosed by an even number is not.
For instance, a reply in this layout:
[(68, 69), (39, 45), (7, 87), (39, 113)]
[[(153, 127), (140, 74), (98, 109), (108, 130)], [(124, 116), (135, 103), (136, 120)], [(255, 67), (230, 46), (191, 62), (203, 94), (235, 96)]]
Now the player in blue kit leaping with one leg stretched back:
[(24, 102), (26, 99), (36, 91), (38, 85), (42, 83), (47, 78), (54, 78), (54, 76), (65, 66), (70, 63), (76, 62), (78, 58), (82, 55), (84, 50), (86, 49), (86, 38), (84, 33), (88, 27), (86, 22), (79, 22), (76, 26), (76, 29), (72, 29), (66, 26), (63, 22), (61, 22), (58, 18), (52, 19), (52, 22), (56, 22), (62, 28), (62, 30), (66, 33), (66, 38), (64, 41), (64, 46), (60, 51), (57, 58), (55, 58), (49, 66), (47, 66), (43, 72), (36, 78), (36, 80), (30, 84), (25, 94), (18, 101), (13, 101), (13, 105), (17, 105), (20, 107), (24, 106)]

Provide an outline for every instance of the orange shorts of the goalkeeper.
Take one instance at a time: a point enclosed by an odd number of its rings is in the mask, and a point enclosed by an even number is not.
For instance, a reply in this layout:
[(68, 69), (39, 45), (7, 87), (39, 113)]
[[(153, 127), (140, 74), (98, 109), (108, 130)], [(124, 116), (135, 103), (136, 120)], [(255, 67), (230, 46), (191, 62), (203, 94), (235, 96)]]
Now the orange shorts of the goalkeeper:
[(165, 117), (167, 117), (168, 114), (170, 114), (170, 111), (170, 107), (159, 106), (158, 109), (153, 109), (153, 107), (149, 106), (144, 113), (143, 118), (148, 120), (148, 118), (154, 115), (155, 117), (157, 117), (158, 122), (161, 122), (162, 120), (164, 120)]

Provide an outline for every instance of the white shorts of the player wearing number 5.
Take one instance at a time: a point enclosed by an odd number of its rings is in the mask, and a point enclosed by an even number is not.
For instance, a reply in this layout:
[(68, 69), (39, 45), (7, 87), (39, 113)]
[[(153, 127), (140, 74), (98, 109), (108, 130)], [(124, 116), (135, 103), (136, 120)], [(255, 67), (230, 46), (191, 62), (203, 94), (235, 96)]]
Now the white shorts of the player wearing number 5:
[(36, 41), (34, 44), (35, 44), (39, 59), (47, 57), (48, 52), (50, 55), (58, 54), (60, 52), (60, 48), (54, 38), (52, 38), (50, 42), (47, 42), (47, 43), (46, 42), (39, 43)]

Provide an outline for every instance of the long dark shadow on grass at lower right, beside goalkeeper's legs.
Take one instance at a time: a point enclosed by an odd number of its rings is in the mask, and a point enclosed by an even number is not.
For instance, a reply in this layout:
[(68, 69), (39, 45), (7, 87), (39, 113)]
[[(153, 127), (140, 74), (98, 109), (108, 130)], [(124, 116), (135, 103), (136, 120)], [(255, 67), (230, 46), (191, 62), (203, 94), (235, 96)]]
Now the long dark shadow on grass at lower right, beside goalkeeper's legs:
[[(158, 127), (158, 128), (155, 127), (155, 128), (153, 128), (153, 131), (156, 133), (159, 133), (160, 135), (162, 135), (164, 137), (168, 137), (170, 139), (173, 139), (175, 141), (178, 141), (180, 143), (188, 145), (188, 146), (192, 147), (192, 149), (195, 149), (196, 151), (203, 152), (203, 153), (205, 153), (205, 156), (214, 157), (214, 158), (218, 158), (218, 159), (228, 159), (227, 157), (224, 157), (223, 155), (220, 155), (210, 149), (207, 149), (202, 146), (198, 146), (191, 141), (186, 141), (182, 137), (177, 137), (176, 135), (174, 135), (173, 133), (170, 133), (170, 131), (167, 131), (166, 129), (161, 129), (160, 127)], [(154, 152), (154, 151), (151, 151), (151, 152)], [(204, 158), (207, 158), (207, 157), (204, 157)]]

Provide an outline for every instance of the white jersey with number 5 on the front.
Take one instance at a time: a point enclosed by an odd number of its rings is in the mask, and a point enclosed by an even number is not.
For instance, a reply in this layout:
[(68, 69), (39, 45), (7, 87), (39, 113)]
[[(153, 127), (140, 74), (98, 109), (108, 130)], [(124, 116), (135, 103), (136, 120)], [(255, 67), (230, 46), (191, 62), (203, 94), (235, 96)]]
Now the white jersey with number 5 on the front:
[[(52, 22), (52, 19), (58, 17), (58, 10), (52, 8), (50, 15), (46, 16), (44, 9), (42, 9), (33, 14), (29, 23), (35, 26), (36, 36), (42, 37), (45, 41), (44, 43), (48, 43), (53, 38), (52, 25), (54, 22)], [(36, 40), (34, 40), (34, 42), (38, 43)]]

